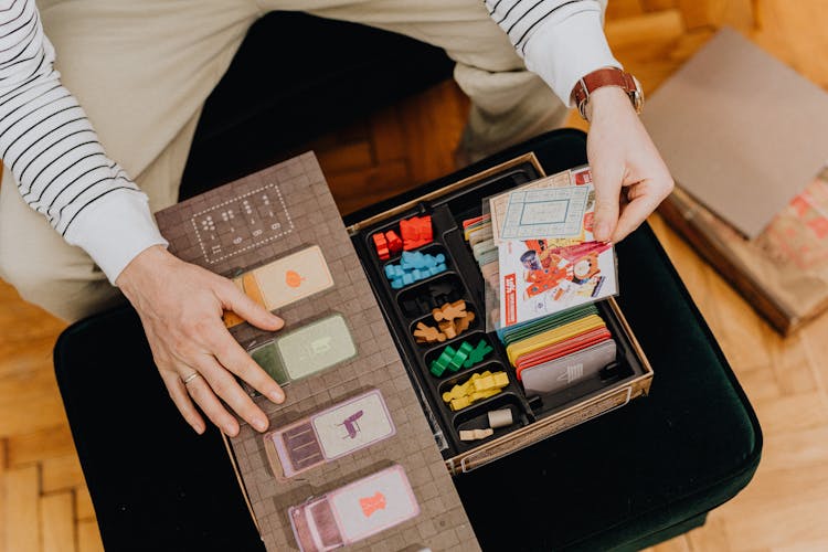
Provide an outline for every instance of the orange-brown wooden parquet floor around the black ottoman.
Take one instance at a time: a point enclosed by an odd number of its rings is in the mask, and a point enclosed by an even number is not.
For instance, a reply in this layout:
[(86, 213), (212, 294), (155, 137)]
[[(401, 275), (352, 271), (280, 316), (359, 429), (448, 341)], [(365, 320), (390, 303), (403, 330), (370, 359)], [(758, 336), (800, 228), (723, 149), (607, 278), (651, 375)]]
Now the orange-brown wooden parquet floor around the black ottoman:
[[(825, 8), (825, 0), (611, 0), (607, 34), (649, 91), (722, 24), (828, 87)], [(452, 171), (467, 107), (443, 83), (311, 144), (342, 212)], [(703, 528), (652, 550), (828, 550), (828, 316), (779, 338), (658, 216), (650, 223), (765, 433), (751, 485)], [(0, 552), (100, 550), (52, 370), (64, 323), (2, 283), (0, 301)]]

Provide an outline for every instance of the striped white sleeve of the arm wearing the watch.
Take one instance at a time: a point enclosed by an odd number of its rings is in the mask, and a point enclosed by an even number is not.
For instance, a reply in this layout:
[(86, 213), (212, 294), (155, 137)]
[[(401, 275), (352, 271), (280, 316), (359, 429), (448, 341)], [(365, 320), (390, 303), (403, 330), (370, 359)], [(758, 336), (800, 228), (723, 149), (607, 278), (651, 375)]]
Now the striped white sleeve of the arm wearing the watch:
[(485, 0), (495, 22), (509, 35), (527, 68), (537, 73), (566, 105), (584, 75), (620, 67), (602, 28), (599, 0)]

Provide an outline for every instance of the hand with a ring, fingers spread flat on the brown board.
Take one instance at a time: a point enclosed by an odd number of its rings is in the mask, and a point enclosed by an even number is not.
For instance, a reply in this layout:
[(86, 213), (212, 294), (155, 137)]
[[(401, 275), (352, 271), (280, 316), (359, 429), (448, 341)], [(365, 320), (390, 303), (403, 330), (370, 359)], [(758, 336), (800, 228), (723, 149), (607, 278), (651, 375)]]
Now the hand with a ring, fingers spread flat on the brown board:
[(225, 434), (238, 433), (238, 422), (220, 397), (253, 427), (267, 429), (267, 416), (233, 374), (275, 403), (282, 403), (285, 394), (233, 339), (222, 312), (232, 310), (270, 331), (284, 326), (280, 318), (229, 279), (184, 263), (158, 245), (135, 257), (117, 285), (138, 310), (167, 391), (195, 432), (201, 434), (205, 427), (193, 400)]

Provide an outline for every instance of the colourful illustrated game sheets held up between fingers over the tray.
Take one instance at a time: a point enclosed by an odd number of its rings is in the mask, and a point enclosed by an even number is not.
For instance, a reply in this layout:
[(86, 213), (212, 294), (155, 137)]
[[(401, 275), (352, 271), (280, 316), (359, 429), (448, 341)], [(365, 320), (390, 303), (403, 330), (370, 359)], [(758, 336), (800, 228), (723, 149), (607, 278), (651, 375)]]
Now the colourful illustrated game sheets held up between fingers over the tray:
[(498, 248), (499, 328), (617, 294), (615, 251), (593, 235), (588, 168), (488, 199)]

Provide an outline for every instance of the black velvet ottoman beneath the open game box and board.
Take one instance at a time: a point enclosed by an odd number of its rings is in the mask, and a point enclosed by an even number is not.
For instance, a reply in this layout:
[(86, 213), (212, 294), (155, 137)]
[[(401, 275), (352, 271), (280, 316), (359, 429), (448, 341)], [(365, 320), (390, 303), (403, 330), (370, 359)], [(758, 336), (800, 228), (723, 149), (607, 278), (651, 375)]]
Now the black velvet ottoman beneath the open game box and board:
[[(552, 173), (585, 161), (585, 139), (551, 132), (424, 188), (526, 151)], [(618, 258), (650, 394), (456, 477), (484, 550), (644, 548), (702, 524), (758, 465), (753, 410), (650, 229)], [(130, 308), (65, 330), (55, 370), (107, 550), (262, 549), (217, 431), (180, 418)]]

